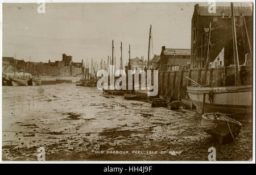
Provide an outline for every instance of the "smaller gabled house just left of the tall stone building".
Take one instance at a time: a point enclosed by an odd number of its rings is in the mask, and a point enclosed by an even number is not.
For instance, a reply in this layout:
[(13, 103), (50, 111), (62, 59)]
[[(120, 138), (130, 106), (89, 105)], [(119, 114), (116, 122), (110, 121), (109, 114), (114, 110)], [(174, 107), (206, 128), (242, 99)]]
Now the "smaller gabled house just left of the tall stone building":
[(173, 49), (163, 46), (160, 55), (160, 70), (189, 69), (190, 61), (190, 49)]

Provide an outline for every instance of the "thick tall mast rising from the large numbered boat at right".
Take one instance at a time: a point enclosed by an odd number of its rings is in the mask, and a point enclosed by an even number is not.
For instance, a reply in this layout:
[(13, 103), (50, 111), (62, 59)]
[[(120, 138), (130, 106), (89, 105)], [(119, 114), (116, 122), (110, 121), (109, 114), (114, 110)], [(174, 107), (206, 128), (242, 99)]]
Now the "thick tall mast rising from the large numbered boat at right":
[(232, 15), (232, 32), (233, 32), (233, 54), (234, 54), (234, 75), (235, 75), (235, 86), (240, 85), (240, 66), (238, 58), (238, 49), (237, 49), (237, 34), (236, 34), (236, 20), (234, 16), (234, 7), (233, 2), (230, 2), (231, 5), (231, 15)]

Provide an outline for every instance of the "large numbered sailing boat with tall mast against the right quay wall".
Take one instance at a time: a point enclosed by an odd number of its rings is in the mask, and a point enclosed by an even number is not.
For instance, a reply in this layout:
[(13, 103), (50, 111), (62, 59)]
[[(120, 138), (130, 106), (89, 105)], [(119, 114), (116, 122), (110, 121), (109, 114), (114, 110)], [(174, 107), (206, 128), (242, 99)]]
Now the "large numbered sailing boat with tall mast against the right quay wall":
[[(234, 114), (232, 115), (232, 118), (240, 118), (240, 119), (245, 118), (246, 120), (251, 120), (251, 118), (247, 118), (247, 116), (251, 117), (251, 113), (252, 113), (252, 109), (251, 109), (252, 86), (250, 82), (247, 84), (241, 82), (242, 78), (247, 78), (248, 74), (247, 76), (243, 76), (241, 78), (241, 66), (240, 66), (240, 60), (238, 58), (237, 39), (236, 39), (236, 22), (234, 19), (233, 3), (231, 3), (231, 10), (232, 10), (232, 30), (233, 30), (232, 32), (233, 32), (233, 43), (234, 43), (233, 44), (234, 84), (230, 86), (208, 87), (207, 85), (201, 86), (197, 82), (193, 81), (196, 84), (196, 87), (188, 86), (187, 92), (188, 92), (189, 98), (193, 102), (193, 105), (196, 106), (197, 112), (200, 114), (220, 112), (225, 114)], [(243, 23), (245, 24), (245, 21)], [(211, 23), (209, 27), (209, 36), (208, 36), (208, 52), (207, 52), (207, 61), (206, 61), (207, 63), (205, 64), (206, 65), (205, 77), (204, 77), (205, 80), (207, 80), (207, 73), (208, 73), (210, 28), (211, 28)], [(249, 40), (248, 42), (250, 45)], [(245, 61), (244, 65), (246, 64), (247, 63)]]

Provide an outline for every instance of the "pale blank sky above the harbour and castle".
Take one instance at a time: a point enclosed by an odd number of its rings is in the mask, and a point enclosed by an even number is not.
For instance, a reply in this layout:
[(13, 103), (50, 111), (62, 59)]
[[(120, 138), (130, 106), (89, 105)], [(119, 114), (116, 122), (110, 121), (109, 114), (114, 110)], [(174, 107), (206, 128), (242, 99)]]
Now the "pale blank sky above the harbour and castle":
[[(147, 59), (152, 24), (154, 54), (167, 48), (191, 47), (191, 18), (196, 3), (47, 3), (39, 14), (36, 3), (3, 4), (3, 56), (25, 61), (61, 60), (62, 53), (74, 62), (112, 55), (119, 65), (131, 59)], [(207, 3), (199, 3), (207, 5)], [(151, 59), (152, 59), (151, 55)]]

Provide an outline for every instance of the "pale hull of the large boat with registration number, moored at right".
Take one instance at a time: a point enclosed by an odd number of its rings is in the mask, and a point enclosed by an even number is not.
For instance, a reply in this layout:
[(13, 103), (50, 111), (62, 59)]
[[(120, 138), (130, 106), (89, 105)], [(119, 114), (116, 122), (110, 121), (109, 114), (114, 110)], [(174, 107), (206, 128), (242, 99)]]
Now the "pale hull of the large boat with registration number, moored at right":
[(199, 114), (251, 115), (251, 86), (187, 87), (187, 92)]

